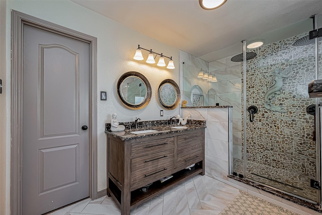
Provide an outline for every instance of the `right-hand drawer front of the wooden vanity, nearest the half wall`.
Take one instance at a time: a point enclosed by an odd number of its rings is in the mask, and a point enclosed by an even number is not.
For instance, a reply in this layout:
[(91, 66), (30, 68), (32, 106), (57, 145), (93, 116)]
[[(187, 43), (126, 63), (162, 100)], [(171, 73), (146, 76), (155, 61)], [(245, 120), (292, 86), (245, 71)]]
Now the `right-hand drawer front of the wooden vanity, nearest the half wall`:
[(203, 159), (203, 137), (201, 132), (178, 136), (177, 167), (187, 167)]

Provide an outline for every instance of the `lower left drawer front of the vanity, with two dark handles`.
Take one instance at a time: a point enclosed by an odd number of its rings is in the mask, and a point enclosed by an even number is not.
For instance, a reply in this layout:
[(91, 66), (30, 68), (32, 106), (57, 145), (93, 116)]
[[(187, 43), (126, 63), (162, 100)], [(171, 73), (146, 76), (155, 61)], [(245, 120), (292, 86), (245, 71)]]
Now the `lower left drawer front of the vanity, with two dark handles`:
[(131, 159), (131, 187), (136, 189), (161, 179), (173, 169), (174, 149)]

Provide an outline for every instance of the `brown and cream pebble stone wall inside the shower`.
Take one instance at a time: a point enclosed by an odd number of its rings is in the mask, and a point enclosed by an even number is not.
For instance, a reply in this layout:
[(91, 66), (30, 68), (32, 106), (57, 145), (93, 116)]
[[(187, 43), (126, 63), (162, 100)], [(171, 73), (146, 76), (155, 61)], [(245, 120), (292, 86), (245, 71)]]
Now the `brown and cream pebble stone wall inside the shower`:
[[(247, 107), (259, 109), (254, 122), (247, 113), (247, 177), (315, 201), (316, 190), (310, 188), (310, 179), (316, 179), (314, 117), (306, 113), (307, 106), (315, 104), (307, 93), (308, 83), (315, 79), (315, 50), (314, 44), (292, 46), (303, 36), (256, 48), (252, 51), (257, 57), (247, 61)], [(280, 94), (271, 100), (284, 113), (264, 106), (275, 68), (289, 70)], [(241, 74), (243, 77), (243, 65)], [(244, 104), (243, 96), (241, 99)], [(244, 142), (243, 135), (242, 139)], [(233, 169), (243, 174), (243, 160), (234, 158)]]

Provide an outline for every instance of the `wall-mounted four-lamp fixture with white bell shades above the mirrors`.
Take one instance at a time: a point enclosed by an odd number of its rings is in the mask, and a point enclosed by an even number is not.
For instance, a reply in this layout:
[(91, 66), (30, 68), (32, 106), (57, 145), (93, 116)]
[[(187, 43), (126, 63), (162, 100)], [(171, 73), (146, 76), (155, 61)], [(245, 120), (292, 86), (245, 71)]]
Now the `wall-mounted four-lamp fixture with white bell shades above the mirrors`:
[[(137, 49), (135, 51), (135, 55), (134, 55), (133, 59), (135, 59), (135, 60), (143, 60), (144, 59), (143, 56), (142, 56), (142, 49), (146, 50), (146, 51), (149, 51), (149, 55), (148, 55), (148, 57), (146, 59), (147, 63), (155, 63), (155, 60), (154, 60), (155, 57), (157, 55), (160, 55), (159, 61), (157, 62), (156, 65), (157, 66), (166, 66), (165, 57), (167, 57), (167, 56), (163, 55), (163, 53), (161, 53), (161, 54), (156, 53), (156, 52), (152, 51), (152, 49), (148, 50), (148, 49), (142, 48), (142, 47), (140, 47), (140, 45), (138, 45), (138, 47), (137, 47)], [(155, 57), (154, 57), (154, 54), (155, 54)], [(176, 68), (172, 57), (167, 57), (167, 58), (170, 59), (169, 62), (168, 62), (167, 68), (169, 68), (169, 69)]]

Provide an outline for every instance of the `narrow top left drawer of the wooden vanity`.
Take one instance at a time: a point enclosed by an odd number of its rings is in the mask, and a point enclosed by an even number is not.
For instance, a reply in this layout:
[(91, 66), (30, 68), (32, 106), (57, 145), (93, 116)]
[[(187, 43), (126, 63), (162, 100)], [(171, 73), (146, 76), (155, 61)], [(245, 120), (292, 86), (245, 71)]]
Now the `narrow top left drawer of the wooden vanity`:
[(131, 144), (131, 156), (137, 157), (175, 148), (174, 137), (152, 139)]

